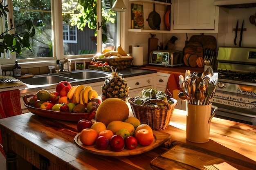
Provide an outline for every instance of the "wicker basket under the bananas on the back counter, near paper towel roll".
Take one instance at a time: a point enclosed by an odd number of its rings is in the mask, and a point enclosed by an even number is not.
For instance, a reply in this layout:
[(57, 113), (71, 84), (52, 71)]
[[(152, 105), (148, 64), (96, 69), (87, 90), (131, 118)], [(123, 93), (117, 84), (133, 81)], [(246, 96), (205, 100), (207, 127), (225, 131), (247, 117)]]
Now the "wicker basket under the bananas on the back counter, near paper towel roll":
[(117, 70), (124, 69), (131, 65), (133, 57), (125, 56), (120, 58), (101, 58), (101, 59), (94, 59), (96, 62), (108, 62), (108, 65), (114, 66)]

